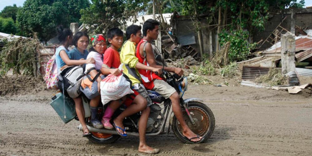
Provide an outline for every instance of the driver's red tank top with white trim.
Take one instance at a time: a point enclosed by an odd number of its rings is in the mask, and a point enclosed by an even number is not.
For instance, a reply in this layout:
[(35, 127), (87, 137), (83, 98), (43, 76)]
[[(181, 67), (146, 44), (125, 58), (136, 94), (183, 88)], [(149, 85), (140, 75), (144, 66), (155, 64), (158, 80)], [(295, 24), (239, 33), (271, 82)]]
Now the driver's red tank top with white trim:
[[(139, 62), (149, 66), (149, 63), (147, 62), (147, 60), (145, 60), (144, 62), (144, 56), (141, 56), (140, 54), (140, 46), (141, 44), (145, 43), (146, 40), (141, 40), (136, 48), (136, 54), (135, 56), (139, 59)], [(163, 80), (161, 77), (159, 77), (157, 74), (155, 74), (153, 71), (149, 71), (149, 70), (144, 70), (144, 69), (138, 69), (140, 76), (142, 78), (142, 84), (144, 85), (144, 87), (148, 90), (152, 90), (154, 88), (154, 82), (153, 80), (158, 79), (158, 80)]]

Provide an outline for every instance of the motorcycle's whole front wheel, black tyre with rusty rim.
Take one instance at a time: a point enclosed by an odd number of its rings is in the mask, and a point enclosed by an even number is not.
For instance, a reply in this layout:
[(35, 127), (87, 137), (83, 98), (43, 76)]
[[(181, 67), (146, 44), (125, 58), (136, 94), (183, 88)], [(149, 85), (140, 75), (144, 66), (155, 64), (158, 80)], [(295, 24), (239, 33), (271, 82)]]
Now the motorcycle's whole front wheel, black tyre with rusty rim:
[(207, 105), (197, 101), (188, 102), (188, 110), (197, 126), (194, 127), (192, 125), (185, 110), (182, 111), (183, 118), (188, 127), (195, 134), (202, 136), (202, 139), (198, 142), (192, 142), (188, 138), (184, 137), (184, 135), (182, 134), (182, 127), (175, 116), (173, 117), (173, 123), (171, 126), (173, 133), (179, 140), (186, 144), (198, 144), (207, 141), (207, 139), (212, 135), (215, 128), (215, 118), (212, 111)]

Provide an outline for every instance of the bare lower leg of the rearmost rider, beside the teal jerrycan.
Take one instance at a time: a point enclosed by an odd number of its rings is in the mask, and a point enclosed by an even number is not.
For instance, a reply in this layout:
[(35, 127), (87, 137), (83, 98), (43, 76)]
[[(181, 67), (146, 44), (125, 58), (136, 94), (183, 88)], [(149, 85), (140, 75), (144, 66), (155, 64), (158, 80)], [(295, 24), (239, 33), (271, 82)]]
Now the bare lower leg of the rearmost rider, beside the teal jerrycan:
[(89, 129), (87, 128), (87, 125), (85, 124), (85, 109), (83, 108), (81, 97), (79, 96), (75, 98), (74, 101), (75, 101), (76, 114), (78, 116), (80, 124), (82, 125), (83, 133), (87, 134), (89, 133)]

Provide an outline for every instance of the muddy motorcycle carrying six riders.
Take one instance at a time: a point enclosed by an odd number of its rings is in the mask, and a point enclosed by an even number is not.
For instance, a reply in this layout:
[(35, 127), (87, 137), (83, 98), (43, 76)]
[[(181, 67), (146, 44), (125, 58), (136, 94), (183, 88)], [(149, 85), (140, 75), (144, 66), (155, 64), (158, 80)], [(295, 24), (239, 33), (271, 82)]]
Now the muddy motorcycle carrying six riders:
[[(153, 105), (150, 106), (150, 115), (147, 123), (146, 135), (154, 136), (162, 134), (165, 132), (165, 125), (169, 122), (167, 133), (170, 132), (170, 127), (175, 134), (175, 136), (181, 140), (183, 143), (188, 144), (198, 144), (207, 141), (207, 139), (212, 135), (215, 128), (215, 118), (210, 110), (210, 108), (203, 103), (203, 100), (198, 98), (183, 99), (183, 95), (188, 88), (188, 81), (186, 77), (181, 77), (176, 74), (171, 74), (170, 72), (163, 71), (163, 77), (166, 82), (174, 87), (180, 95), (180, 106), (183, 111), (183, 118), (185, 119), (188, 127), (197, 135), (202, 136), (202, 139), (198, 142), (192, 142), (182, 134), (182, 127), (175, 117), (173, 112), (169, 116), (171, 109), (171, 100), (165, 99), (163, 96), (159, 95), (153, 90), (148, 90), (149, 97), (151, 98)], [(86, 99), (86, 98), (84, 98)], [(87, 102), (84, 100), (84, 103)], [(98, 119), (103, 116), (103, 109), (107, 105), (98, 107)], [(117, 109), (112, 116), (112, 119), (117, 117), (123, 110), (125, 106), (122, 105)], [(90, 114), (90, 110), (85, 109), (86, 114)], [(124, 119), (124, 127), (128, 135), (139, 136), (138, 121), (141, 112), (134, 115), (126, 117)], [(169, 119), (169, 121), (167, 121)], [(86, 118), (86, 123), (89, 122), (89, 118)], [(87, 125), (89, 131), (92, 135), (87, 136), (87, 138), (94, 143), (113, 143), (119, 139), (120, 135), (115, 129), (96, 129)], [(81, 124), (77, 126), (81, 131)]]

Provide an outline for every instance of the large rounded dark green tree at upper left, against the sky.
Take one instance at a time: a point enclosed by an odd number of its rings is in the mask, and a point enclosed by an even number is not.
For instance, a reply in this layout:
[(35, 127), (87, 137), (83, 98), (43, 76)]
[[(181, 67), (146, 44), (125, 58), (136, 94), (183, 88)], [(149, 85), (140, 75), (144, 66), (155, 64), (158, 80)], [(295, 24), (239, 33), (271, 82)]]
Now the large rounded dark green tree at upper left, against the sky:
[(38, 32), (38, 37), (47, 41), (55, 36), (56, 26), (79, 22), (80, 9), (89, 4), (88, 0), (26, 0), (17, 12), (17, 22), (22, 32)]

